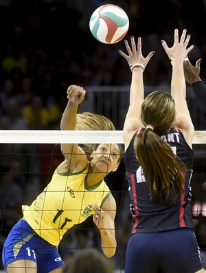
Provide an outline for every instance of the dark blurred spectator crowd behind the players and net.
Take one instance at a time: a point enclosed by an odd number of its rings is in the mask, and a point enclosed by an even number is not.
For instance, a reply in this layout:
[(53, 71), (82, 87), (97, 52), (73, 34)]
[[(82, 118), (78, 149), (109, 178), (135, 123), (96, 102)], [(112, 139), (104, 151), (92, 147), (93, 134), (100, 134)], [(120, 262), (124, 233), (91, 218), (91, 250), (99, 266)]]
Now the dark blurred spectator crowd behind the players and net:
[[(205, 0), (0, 0), (0, 130), (59, 129), (71, 84), (130, 85), (130, 69), (118, 54), (119, 49), (124, 50), (124, 41), (102, 44), (89, 31), (91, 14), (106, 3), (114, 3), (128, 14), (126, 39), (141, 36), (145, 54), (157, 52), (146, 69), (146, 85), (170, 85), (171, 64), (161, 39), (173, 41), (174, 28), (187, 28), (192, 34), (195, 48), (189, 58), (192, 63), (203, 58), (201, 78), (206, 81)], [(1, 144), (0, 149), (2, 245), (21, 217), (21, 204), (30, 204), (46, 186), (61, 153), (53, 144)], [(124, 165), (107, 179), (117, 200), (115, 263), (124, 267), (131, 221)], [(202, 190), (205, 193), (204, 186)], [(202, 207), (194, 214), (196, 219), (205, 217)], [(203, 227), (205, 220), (197, 225)], [(100, 248), (93, 223), (88, 221), (87, 226), (90, 229), (80, 226), (68, 234), (60, 248), (63, 258), (80, 248)], [(206, 249), (205, 241), (201, 247)]]

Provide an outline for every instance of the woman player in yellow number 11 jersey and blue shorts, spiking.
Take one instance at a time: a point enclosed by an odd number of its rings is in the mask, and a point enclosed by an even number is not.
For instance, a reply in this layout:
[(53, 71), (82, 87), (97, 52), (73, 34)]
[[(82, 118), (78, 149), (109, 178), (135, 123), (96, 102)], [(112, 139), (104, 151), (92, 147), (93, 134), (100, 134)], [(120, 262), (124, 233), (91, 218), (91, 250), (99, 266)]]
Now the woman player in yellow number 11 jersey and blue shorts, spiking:
[[(82, 87), (69, 86), (69, 101), (60, 129), (76, 129), (78, 105), (85, 94)], [(99, 118), (102, 120), (102, 116)], [(78, 144), (61, 144), (61, 150), (65, 160), (56, 168), (43, 193), (31, 206), (23, 206), (23, 219), (16, 223), (5, 241), (3, 265), (8, 273), (63, 272), (65, 265), (58, 245), (69, 228), (90, 215), (100, 230), (104, 254), (107, 257), (115, 254), (116, 203), (104, 177), (117, 170), (121, 146), (97, 144), (90, 160)]]

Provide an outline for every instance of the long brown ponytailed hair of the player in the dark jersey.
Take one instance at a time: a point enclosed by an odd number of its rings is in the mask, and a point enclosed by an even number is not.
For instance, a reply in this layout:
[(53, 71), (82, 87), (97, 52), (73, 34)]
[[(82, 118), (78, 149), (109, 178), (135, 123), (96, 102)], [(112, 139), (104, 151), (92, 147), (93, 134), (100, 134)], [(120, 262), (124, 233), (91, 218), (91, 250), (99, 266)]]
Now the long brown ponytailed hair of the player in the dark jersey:
[(143, 129), (134, 141), (135, 155), (143, 169), (150, 199), (160, 203), (175, 202), (183, 193), (185, 164), (160, 138), (161, 133), (172, 127), (174, 119), (172, 96), (165, 91), (152, 92), (141, 106), (141, 121), (145, 127), (151, 124), (152, 128)]

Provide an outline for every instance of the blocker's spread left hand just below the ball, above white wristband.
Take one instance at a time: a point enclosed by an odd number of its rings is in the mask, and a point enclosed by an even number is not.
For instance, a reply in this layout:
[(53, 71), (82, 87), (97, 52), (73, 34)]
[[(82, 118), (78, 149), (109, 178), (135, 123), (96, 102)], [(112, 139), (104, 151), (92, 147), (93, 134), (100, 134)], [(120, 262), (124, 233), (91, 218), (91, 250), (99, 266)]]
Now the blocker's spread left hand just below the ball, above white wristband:
[(152, 58), (152, 56), (155, 54), (155, 51), (150, 52), (148, 56), (146, 56), (145, 58), (141, 52), (141, 37), (138, 37), (137, 39), (137, 46), (134, 37), (131, 36), (130, 39), (131, 47), (128, 45), (127, 40), (124, 41), (128, 55), (122, 52), (122, 50), (119, 50), (119, 54), (121, 54), (126, 59), (129, 67), (138, 63), (140, 65), (143, 65), (143, 67), (145, 68), (148, 62), (150, 61), (150, 58)]

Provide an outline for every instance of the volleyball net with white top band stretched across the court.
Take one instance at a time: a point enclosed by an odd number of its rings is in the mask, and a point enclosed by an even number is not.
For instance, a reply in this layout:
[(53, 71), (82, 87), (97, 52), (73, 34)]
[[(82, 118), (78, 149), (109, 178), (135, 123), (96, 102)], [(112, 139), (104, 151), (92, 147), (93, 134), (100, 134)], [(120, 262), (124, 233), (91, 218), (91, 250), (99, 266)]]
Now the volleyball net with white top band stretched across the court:
[[(21, 205), (30, 205), (52, 179), (54, 170), (64, 160), (60, 143), (123, 144), (122, 131), (0, 131), (0, 220), (1, 250), (10, 229), (22, 217)], [(192, 215), (196, 237), (206, 265), (206, 131), (196, 131), (194, 174), (192, 177)], [(124, 272), (126, 245), (130, 237), (131, 216), (124, 160), (115, 173), (105, 178), (117, 202), (115, 228), (117, 251), (113, 261), (118, 272)], [(59, 251), (65, 260), (84, 248), (101, 250), (100, 234), (88, 218), (63, 237)], [(0, 265), (0, 270), (3, 268)], [(206, 267), (206, 266), (205, 266)]]

